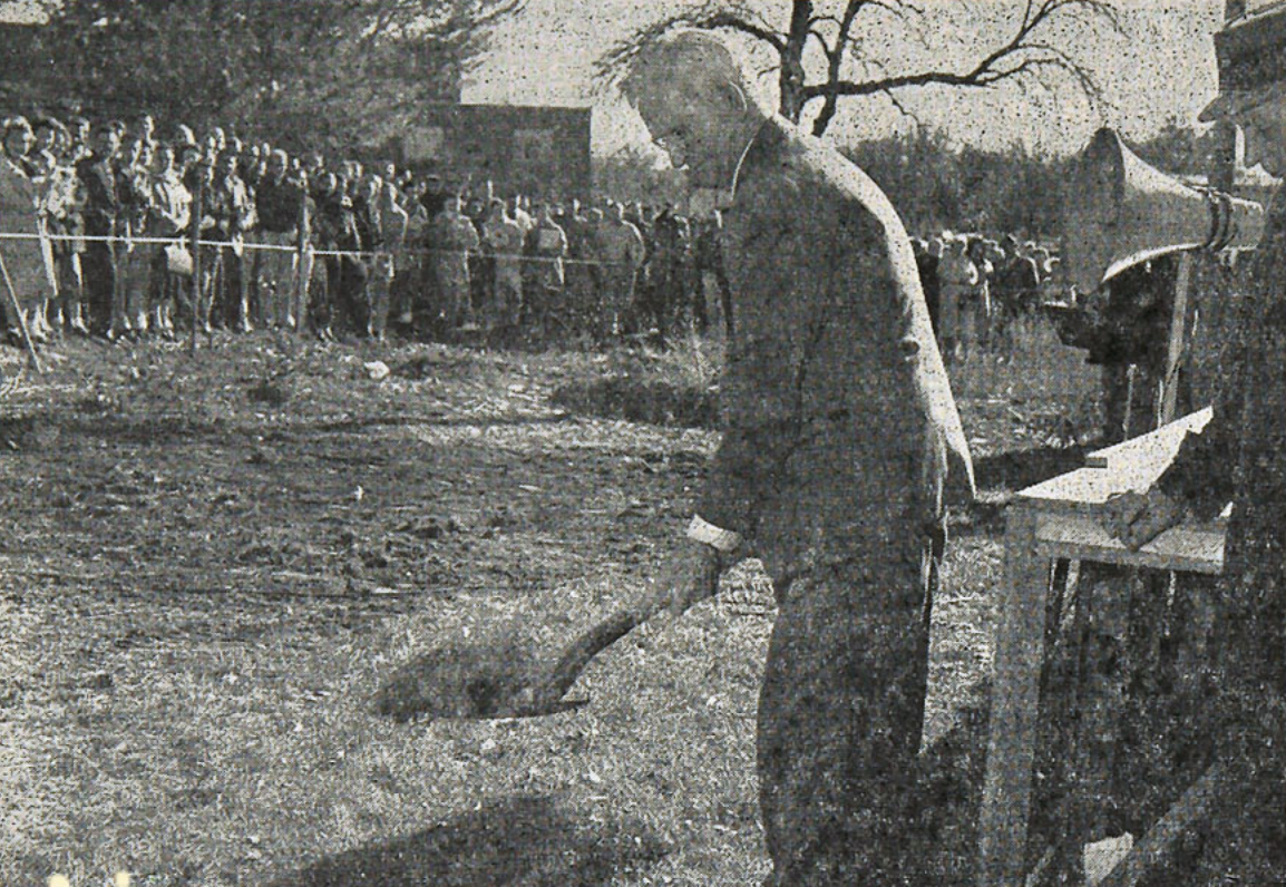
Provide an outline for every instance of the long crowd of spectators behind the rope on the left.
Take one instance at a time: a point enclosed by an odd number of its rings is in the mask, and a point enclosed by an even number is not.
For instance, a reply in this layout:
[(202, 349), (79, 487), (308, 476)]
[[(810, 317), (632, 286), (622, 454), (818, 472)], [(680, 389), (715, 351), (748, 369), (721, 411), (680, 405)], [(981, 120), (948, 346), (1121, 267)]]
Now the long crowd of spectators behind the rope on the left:
[(449, 188), (222, 127), (198, 140), (180, 125), (166, 140), (152, 117), (10, 117), (0, 135), (12, 338), (23, 327), (37, 343), (174, 337), (194, 324), (379, 339), (392, 324), (499, 343), (664, 339), (715, 314), (730, 329), (718, 212)]

